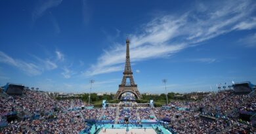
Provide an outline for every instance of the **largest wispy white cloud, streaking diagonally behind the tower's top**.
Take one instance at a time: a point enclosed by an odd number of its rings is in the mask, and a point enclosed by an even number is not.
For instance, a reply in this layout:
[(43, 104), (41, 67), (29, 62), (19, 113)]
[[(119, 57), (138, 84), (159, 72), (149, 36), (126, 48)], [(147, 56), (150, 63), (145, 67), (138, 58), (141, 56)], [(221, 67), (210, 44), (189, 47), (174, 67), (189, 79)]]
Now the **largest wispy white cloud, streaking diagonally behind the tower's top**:
[[(183, 14), (157, 16), (142, 25), (139, 32), (129, 35), (131, 61), (163, 58), (224, 33), (256, 27), (253, 1), (223, 1), (214, 6), (206, 2), (200, 7)], [(200, 61), (211, 63), (215, 59)], [(121, 71), (124, 62), (125, 44), (116, 42), (110, 50), (104, 50), (85, 75)]]

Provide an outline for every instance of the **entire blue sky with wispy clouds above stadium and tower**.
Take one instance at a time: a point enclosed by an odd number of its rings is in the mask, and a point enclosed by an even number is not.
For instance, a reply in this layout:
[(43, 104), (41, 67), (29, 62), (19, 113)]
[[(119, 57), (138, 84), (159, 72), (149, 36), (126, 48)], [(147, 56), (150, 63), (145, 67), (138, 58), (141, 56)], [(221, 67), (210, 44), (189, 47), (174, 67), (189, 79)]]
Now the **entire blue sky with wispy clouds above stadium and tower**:
[(256, 84), (255, 1), (0, 1), (0, 84), (116, 92), (125, 39), (139, 91)]

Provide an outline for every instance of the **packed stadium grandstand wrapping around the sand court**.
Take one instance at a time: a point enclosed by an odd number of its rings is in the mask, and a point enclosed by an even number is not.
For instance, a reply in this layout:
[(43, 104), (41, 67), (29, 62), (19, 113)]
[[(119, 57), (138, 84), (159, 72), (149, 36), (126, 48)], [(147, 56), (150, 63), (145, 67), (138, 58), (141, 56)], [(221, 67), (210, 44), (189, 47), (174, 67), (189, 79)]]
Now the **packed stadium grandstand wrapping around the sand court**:
[(169, 133), (255, 133), (256, 95), (222, 90), (199, 101), (171, 101), (162, 107), (123, 101), (96, 108), (81, 99), (57, 100), (31, 89), (20, 95), (0, 93), (0, 133), (99, 133), (108, 124), (142, 129), (158, 125)]

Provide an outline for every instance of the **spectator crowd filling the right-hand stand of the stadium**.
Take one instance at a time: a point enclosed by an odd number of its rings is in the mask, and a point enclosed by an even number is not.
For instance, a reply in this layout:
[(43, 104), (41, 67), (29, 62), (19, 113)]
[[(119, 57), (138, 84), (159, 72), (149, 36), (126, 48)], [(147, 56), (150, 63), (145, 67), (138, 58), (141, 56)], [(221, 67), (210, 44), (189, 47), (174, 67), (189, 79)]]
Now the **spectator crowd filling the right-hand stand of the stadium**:
[(254, 133), (255, 127), (251, 121), (242, 120), (240, 111), (255, 114), (255, 98), (227, 90), (202, 101), (174, 101), (154, 108), (154, 113), (158, 119), (169, 119), (168, 126), (177, 133)]

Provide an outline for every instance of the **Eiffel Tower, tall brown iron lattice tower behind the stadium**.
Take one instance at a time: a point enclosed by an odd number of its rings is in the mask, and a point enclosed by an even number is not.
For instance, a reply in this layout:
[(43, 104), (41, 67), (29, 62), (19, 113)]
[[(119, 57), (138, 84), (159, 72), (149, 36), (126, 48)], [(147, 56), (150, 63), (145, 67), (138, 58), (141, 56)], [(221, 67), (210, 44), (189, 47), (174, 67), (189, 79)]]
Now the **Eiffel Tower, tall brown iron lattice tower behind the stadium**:
[(115, 98), (120, 99), (121, 95), (125, 92), (131, 92), (137, 99), (142, 98), (140, 92), (133, 80), (133, 72), (131, 71), (130, 52), (129, 52), (129, 39), (126, 39), (126, 59), (125, 59), (125, 71), (123, 72), (123, 80), (119, 84), (119, 89), (116, 92)]

